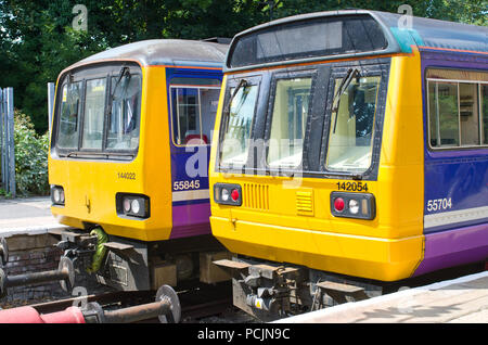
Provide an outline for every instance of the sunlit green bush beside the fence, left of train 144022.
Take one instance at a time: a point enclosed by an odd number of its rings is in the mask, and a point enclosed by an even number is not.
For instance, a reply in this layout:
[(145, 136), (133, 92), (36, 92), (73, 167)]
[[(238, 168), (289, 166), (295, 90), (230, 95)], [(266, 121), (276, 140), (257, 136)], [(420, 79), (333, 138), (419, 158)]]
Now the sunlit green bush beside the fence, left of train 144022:
[(15, 183), (18, 195), (47, 195), (49, 136), (39, 136), (30, 118), (14, 114)]

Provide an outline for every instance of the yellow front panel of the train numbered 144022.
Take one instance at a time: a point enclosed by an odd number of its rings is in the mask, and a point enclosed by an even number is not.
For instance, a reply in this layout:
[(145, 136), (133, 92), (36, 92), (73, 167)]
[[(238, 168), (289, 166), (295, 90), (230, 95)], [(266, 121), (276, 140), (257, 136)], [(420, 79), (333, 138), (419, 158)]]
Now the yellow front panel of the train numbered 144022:
[[(49, 183), (65, 191), (65, 206), (53, 206), (56, 219), (82, 227), (97, 223), (114, 235), (144, 241), (166, 240), (171, 231), (171, 182), (165, 68), (142, 68), (142, 103), (139, 151), (129, 163), (114, 161), (60, 159), (49, 156)], [(119, 178), (129, 173), (134, 179)], [(118, 192), (147, 195), (151, 217), (120, 218), (116, 213)]]

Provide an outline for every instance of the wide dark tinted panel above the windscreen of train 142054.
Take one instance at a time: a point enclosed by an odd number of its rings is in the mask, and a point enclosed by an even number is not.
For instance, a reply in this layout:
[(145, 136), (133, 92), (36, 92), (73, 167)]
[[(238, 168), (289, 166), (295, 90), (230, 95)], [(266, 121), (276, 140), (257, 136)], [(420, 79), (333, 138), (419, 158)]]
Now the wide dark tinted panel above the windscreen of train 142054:
[(368, 15), (286, 23), (243, 36), (231, 48), (229, 67), (385, 49), (380, 25)]

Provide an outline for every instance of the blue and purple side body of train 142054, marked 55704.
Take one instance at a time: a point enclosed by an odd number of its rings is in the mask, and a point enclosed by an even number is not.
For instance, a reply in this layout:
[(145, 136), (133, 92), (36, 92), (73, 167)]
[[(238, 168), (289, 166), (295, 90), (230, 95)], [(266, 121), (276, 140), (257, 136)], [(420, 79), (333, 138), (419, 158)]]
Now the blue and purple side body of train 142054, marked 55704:
[[(488, 252), (488, 149), (470, 148), (463, 142), (461, 144), (464, 148), (458, 150), (429, 148), (429, 139), (434, 140), (434, 138), (429, 132), (432, 125), (429, 126), (428, 118), (428, 106), (432, 106), (429, 102), (432, 100), (427, 100), (428, 82), (433, 82), (433, 86), (437, 82), (459, 85), (461, 89), (458, 89), (457, 93), (459, 93), (460, 104), (462, 104), (462, 98), (467, 95), (462, 94), (462, 88), (472, 87), (475, 104), (479, 105), (478, 107), (475, 105), (474, 113), (477, 113), (479, 123), (483, 124), (486, 122), (488, 61), (483, 54), (457, 50), (438, 51), (424, 48), (421, 49), (421, 53), (423, 79), (428, 80), (423, 84), (424, 138), (426, 138), (423, 210), (425, 254), (424, 260), (415, 270), (415, 276), (484, 260)], [(440, 72), (440, 74), (439, 76), (429, 75), (431, 71)], [(442, 73), (449, 73), (447, 71), (450, 71), (451, 75), (442, 76)], [(459, 73), (461, 71), (464, 74)], [(485, 104), (485, 108), (481, 108), (481, 104)], [(460, 112), (462, 110), (460, 106)], [(458, 129), (461, 138), (467, 138), (464, 128), (467, 127), (465, 124), (468, 122), (468, 115), (460, 115), (461, 126), (458, 126)], [(479, 133), (473, 137), (486, 140), (486, 130), (484, 133), (480, 126)]]

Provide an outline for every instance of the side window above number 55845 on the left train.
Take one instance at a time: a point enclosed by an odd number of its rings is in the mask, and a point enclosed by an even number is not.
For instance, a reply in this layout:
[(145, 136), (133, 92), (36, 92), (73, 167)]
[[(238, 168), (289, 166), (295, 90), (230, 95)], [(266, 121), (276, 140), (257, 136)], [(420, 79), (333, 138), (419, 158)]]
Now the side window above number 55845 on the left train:
[(210, 144), (220, 81), (217, 79), (174, 78), (170, 92), (175, 144)]

